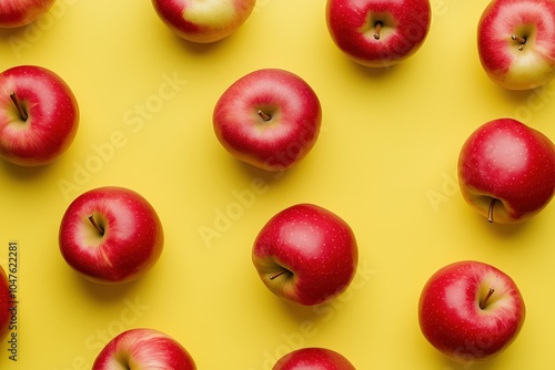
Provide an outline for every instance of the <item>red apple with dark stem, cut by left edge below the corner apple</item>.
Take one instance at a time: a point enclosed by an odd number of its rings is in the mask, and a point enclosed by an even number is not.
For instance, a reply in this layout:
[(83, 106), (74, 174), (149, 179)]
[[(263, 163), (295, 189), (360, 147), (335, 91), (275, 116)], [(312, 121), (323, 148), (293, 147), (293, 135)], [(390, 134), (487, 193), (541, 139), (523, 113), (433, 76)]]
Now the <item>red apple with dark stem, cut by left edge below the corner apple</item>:
[(73, 142), (79, 106), (54, 72), (19, 65), (0, 73), (0, 156), (21, 166), (51, 163)]

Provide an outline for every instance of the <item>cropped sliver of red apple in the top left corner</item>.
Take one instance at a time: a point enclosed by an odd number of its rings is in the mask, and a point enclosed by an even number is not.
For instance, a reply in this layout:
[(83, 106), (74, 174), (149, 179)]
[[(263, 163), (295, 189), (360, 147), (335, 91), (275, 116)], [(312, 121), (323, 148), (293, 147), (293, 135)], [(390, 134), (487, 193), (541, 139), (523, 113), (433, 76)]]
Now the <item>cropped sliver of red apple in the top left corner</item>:
[(0, 0), (0, 28), (23, 27), (44, 14), (56, 0)]

